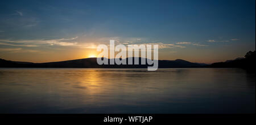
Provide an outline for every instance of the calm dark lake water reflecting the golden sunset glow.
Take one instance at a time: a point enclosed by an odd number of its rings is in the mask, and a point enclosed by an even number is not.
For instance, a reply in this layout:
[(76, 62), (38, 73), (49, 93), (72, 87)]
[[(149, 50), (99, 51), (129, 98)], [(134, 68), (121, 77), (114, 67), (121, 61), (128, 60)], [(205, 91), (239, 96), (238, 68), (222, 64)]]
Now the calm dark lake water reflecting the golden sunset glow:
[(255, 113), (255, 73), (0, 68), (0, 113)]

